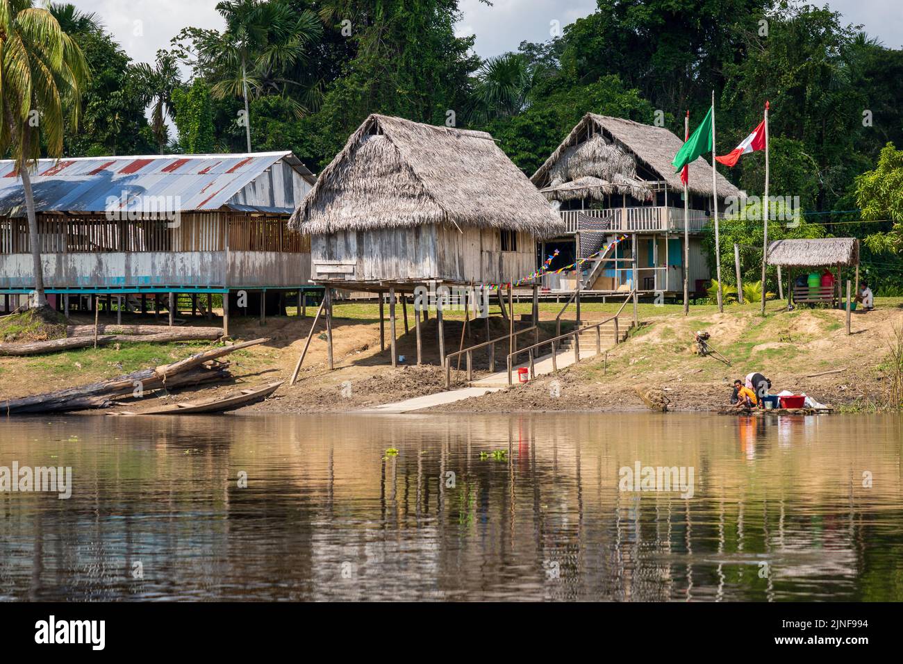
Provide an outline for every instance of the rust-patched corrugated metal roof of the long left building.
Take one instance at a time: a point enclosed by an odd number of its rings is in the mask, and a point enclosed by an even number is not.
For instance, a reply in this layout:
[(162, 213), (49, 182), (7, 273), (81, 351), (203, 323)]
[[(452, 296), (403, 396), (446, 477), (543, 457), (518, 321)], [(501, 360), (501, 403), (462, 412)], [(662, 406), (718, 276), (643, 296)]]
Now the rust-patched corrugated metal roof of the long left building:
[[(314, 182), (291, 152), (42, 159), (32, 172), (34, 202), (39, 212), (218, 210), (280, 160)], [(0, 215), (24, 214), (22, 179), (0, 160)]]

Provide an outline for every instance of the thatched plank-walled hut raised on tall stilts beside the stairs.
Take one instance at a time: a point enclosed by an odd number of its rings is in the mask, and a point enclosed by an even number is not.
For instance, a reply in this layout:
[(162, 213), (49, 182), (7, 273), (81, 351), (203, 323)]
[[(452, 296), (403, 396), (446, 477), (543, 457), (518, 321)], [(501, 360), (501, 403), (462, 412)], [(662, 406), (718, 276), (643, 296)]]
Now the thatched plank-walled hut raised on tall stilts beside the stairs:
[[(535, 270), (536, 238), (563, 229), (489, 134), (378, 115), (289, 226), (311, 235), (315, 283), (387, 291), (390, 307), (418, 286), (517, 282)], [(394, 334), (392, 345), (395, 359)]]

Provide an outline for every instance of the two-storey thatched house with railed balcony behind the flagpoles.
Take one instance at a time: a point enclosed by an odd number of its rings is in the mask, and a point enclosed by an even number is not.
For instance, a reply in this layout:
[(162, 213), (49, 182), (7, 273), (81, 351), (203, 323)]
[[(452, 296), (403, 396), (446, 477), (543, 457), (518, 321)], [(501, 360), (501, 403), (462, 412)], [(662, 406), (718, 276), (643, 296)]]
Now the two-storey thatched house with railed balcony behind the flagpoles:
[[(546, 275), (544, 285), (569, 290), (576, 283), (571, 277), (579, 276), (585, 291), (683, 293), (684, 185), (671, 165), (683, 144), (665, 127), (593, 113), (582, 117), (531, 178), (546, 199), (558, 203), (565, 223), (542, 253), (557, 248), (568, 265), (610, 249), (584, 263), (579, 275)], [(700, 157), (688, 170), (686, 271), (690, 289), (702, 292), (710, 277), (702, 238), (712, 214), (712, 166)], [(722, 209), (725, 198), (740, 192), (721, 173), (716, 180)], [(628, 239), (612, 245), (621, 235)]]

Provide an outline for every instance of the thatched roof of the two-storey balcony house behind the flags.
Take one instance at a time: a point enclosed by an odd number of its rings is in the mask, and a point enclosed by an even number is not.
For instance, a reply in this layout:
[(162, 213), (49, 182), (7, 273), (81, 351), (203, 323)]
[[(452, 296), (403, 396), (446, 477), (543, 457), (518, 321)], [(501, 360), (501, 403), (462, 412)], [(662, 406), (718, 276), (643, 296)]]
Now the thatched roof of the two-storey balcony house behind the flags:
[[(598, 144), (600, 141), (607, 144), (608, 147), (589, 150), (581, 147), (584, 142)], [(628, 154), (636, 160), (635, 164), (637, 162), (645, 164), (656, 173), (658, 179), (664, 180), (670, 189), (682, 192), (684, 185), (680, 181), (680, 173), (675, 173), (675, 168), (671, 165), (671, 160), (674, 159), (681, 145), (684, 145), (684, 141), (665, 127), (642, 125), (620, 117), (597, 116), (595, 113), (587, 113), (577, 123), (577, 126), (574, 126), (562, 144), (555, 149), (554, 153), (545, 160), (545, 164), (533, 174), (531, 180), (541, 189), (554, 186), (555, 176), (561, 170), (562, 162), (569, 164), (565, 168), (566, 172), (571, 175), (570, 180), (585, 175), (611, 180), (605, 174), (613, 167), (612, 164), (607, 163), (607, 157), (614, 160), (613, 164), (616, 170), (618, 168), (628, 168), (629, 170), (629, 164), (625, 164), (622, 156)], [(582, 166), (580, 169), (570, 165), (574, 164), (573, 154), (575, 152), (587, 157), (576, 160)], [(712, 164), (706, 162), (703, 157), (699, 157), (690, 164), (689, 168), (690, 182), (688, 186), (690, 191), (711, 196)], [(623, 174), (631, 176), (631, 173)], [(635, 166), (633, 175), (636, 175)], [(728, 182), (721, 173), (717, 174), (716, 180), (719, 198), (740, 195), (740, 190)]]

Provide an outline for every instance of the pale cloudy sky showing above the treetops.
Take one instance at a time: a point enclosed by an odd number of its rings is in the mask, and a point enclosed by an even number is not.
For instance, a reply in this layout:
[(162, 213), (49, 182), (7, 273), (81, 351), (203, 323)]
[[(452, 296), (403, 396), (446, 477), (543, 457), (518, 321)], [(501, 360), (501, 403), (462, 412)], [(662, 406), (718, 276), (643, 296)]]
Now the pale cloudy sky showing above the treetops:
[[(70, 0), (79, 9), (98, 14), (135, 61), (153, 61), (176, 33), (188, 25), (219, 28), (213, 9), (217, 0)], [(488, 58), (517, 49), (522, 40), (545, 42), (555, 26), (573, 23), (590, 14), (595, 0), (461, 0), (463, 18), (459, 34), (477, 36), (476, 51)], [(822, 4), (815, 2), (814, 4)], [(900, 0), (833, 0), (833, 9), (849, 23), (861, 23), (866, 32), (886, 46), (903, 46), (903, 11)]]

